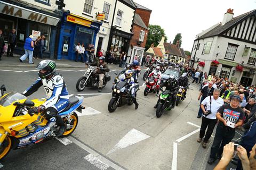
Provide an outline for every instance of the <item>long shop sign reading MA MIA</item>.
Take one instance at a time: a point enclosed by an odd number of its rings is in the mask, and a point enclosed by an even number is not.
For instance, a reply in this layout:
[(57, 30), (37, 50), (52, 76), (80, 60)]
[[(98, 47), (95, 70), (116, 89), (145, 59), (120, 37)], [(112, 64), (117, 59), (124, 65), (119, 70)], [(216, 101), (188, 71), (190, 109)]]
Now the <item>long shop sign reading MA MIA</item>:
[(5, 2), (0, 2), (0, 13), (49, 25), (57, 25), (60, 20), (50, 15), (28, 10)]

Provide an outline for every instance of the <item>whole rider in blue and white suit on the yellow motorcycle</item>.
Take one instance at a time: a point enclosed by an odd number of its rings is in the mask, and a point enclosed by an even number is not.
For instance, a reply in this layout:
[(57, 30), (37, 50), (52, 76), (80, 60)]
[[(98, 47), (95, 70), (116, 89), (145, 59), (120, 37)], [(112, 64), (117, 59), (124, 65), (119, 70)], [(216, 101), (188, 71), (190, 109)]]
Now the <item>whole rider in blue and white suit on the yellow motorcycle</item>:
[(56, 64), (52, 60), (41, 61), (36, 69), (39, 70), (39, 78), (22, 94), (26, 97), (30, 96), (36, 92), (39, 87), (44, 86), (47, 99), (45, 103), (39, 107), (30, 108), (28, 112), (44, 112), (46, 120), (52, 122), (56, 121), (56, 124), (60, 126), (56, 135), (60, 137), (65, 131), (65, 123), (58, 113), (63, 111), (69, 105), (69, 96), (65, 81), (61, 75), (55, 73)]

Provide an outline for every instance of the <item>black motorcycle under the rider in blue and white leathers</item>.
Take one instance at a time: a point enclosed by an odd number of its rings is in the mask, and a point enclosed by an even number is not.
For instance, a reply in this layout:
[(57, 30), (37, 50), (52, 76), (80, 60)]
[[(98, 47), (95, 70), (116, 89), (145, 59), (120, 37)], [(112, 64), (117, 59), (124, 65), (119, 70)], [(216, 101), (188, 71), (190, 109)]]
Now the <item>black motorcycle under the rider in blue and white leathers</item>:
[[(115, 112), (117, 107), (123, 106), (125, 104), (132, 105), (133, 100), (131, 93), (127, 87), (126, 82), (119, 81), (112, 87), (112, 98), (110, 99), (108, 103), (108, 111)], [(139, 84), (135, 84), (135, 91), (137, 92), (139, 90)], [(136, 97), (136, 96), (135, 96)]]

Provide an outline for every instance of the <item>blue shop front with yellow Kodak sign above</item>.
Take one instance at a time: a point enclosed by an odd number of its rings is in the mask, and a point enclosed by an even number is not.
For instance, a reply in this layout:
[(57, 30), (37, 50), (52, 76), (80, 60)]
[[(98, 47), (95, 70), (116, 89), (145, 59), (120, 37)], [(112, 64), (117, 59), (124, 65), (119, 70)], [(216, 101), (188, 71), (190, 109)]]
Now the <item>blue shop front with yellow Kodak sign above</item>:
[(88, 44), (95, 45), (100, 25), (100, 22), (65, 12), (61, 23), (57, 59), (75, 60), (77, 43), (84, 44), (85, 47)]

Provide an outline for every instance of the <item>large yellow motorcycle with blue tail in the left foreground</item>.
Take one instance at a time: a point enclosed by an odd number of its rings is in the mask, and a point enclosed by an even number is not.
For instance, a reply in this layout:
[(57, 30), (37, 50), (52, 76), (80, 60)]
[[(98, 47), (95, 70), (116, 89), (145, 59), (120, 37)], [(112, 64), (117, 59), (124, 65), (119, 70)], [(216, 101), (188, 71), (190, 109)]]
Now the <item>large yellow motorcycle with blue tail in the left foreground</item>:
[[(0, 160), (11, 149), (32, 146), (56, 136), (55, 132), (59, 130), (59, 126), (54, 118), (47, 121), (43, 113), (28, 113), (30, 107), (43, 104), (45, 99), (28, 100), (18, 92), (4, 95), (4, 85), (0, 89)], [(70, 97), (68, 107), (59, 113), (66, 124), (62, 138), (75, 131), (78, 124), (76, 112), (84, 109), (81, 105), (83, 99), (82, 96)]]

